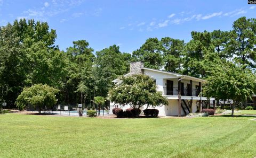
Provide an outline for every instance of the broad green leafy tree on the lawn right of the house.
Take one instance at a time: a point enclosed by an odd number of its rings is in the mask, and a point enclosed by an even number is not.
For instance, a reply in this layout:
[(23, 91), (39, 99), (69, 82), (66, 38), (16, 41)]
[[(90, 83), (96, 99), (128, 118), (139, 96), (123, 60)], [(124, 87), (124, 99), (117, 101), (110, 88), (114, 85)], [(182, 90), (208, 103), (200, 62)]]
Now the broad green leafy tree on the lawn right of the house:
[(255, 82), (256, 77), (250, 69), (227, 62), (215, 66), (212, 75), (207, 78), (204, 94), (222, 100), (232, 99), (234, 111), (235, 104), (250, 99), (254, 94)]

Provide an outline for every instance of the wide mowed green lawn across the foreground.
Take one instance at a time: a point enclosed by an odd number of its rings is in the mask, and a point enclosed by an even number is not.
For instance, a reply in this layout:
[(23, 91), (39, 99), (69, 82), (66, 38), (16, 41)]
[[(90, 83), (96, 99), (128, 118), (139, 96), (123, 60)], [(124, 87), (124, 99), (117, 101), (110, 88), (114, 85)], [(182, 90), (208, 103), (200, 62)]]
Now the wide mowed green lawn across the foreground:
[(0, 157), (254, 157), (255, 117), (0, 115)]

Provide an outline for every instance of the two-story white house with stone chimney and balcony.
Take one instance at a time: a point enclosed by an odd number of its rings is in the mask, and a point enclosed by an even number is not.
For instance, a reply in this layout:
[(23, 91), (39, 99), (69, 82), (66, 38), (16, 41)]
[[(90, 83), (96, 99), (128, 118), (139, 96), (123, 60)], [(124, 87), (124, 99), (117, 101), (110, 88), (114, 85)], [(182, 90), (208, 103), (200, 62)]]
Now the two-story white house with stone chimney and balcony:
[[(157, 69), (151, 69), (143, 67), (142, 62), (130, 63), (130, 73), (124, 76), (130, 76), (134, 74), (145, 74), (152, 77), (157, 85), (157, 91), (162, 92), (168, 101), (167, 106), (158, 106), (159, 116), (181, 116), (188, 115), (190, 112), (202, 111), (203, 102), (213, 102), (215, 107), (215, 99), (199, 96), (202, 91), (202, 85), (205, 80), (200, 78), (191, 77), (187, 75), (181, 75), (172, 72), (159, 71)], [(118, 78), (114, 80), (115, 84), (118, 84), (120, 80)], [(117, 107), (118, 104), (110, 102), (110, 113), (112, 109)], [(124, 110), (130, 108), (129, 105), (124, 107)], [(147, 106), (143, 107), (144, 109)]]

